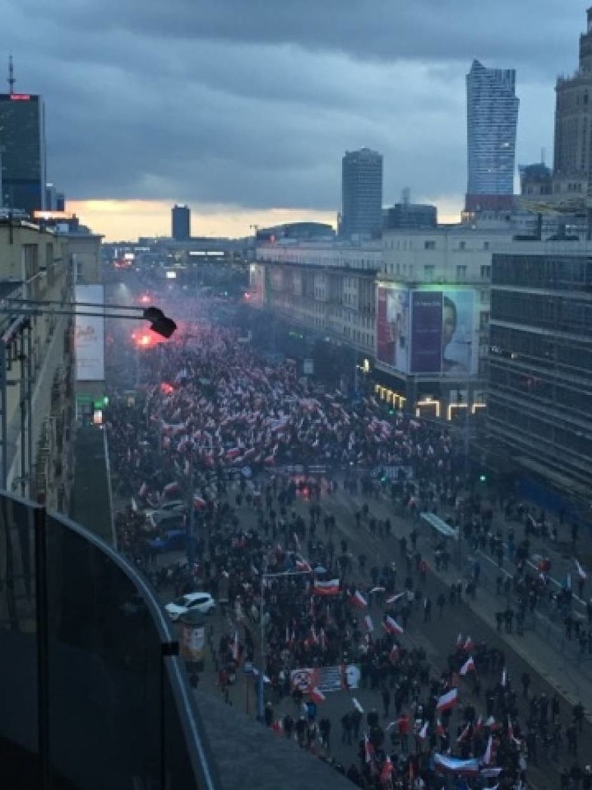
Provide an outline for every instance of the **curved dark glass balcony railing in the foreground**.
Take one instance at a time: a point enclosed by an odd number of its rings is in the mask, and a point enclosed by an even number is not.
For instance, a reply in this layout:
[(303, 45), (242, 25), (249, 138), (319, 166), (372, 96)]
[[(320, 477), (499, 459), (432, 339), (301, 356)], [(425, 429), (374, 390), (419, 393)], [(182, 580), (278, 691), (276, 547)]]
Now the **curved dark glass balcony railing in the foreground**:
[(0, 786), (218, 790), (177, 652), (125, 559), (0, 494)]

